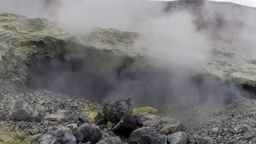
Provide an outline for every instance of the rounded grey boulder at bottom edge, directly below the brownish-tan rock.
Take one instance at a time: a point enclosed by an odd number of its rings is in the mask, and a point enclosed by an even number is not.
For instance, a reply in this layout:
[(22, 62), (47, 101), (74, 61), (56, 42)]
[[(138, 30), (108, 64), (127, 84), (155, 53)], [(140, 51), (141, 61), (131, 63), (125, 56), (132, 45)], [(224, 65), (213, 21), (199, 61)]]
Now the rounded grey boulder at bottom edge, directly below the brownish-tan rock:
[(129, 139), (130, 144), (167, 144), (165, 135), (159, 135), (154, 128), (143, 127), (132, 131)]

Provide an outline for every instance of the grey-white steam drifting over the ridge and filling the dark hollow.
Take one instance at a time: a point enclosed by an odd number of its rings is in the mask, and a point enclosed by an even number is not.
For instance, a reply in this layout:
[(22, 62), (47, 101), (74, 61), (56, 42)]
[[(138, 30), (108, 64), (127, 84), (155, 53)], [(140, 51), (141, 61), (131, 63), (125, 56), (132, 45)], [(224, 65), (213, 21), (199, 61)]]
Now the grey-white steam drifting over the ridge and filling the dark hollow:
[[(32, 76), (36, 88), (75, 94), (99, 103), (133, 97), (136, 105), (155, 107), (223, 104), (247, 95), (234, 82), (214, 76), (195, 80), (194, 76), (197, 67), (208, 62), (212, 45), (256, 56), (255, 9), (213, 2), (178, 7), (142, 0), (0, 1), (4, 3), (0, 13), (44, 17), (74, 35), (95, 27), (138, 32), (132, 49), (152, 58), (143, 66), (133, 63), (121, 76), (102, 75), (97, 72), (99, 67), (87, 63), (75, 71), (71, 64), (59, 61), (51, 62), (50, 67), (37, 64), (34, 69), (43, 74)], [(101, 67), (107, 67), (107, 63)]]

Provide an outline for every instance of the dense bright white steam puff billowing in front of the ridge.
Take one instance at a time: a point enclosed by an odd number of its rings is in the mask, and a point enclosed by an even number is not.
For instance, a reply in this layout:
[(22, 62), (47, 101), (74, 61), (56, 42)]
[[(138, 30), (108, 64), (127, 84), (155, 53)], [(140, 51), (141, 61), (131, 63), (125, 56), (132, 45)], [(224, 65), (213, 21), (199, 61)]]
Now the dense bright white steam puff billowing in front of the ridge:
[(151, 19), (138, 26), (135, 48), (149, 56), (185, 67), (195, 67), (210, 54), (206, 35), (196, 31), (188, 11)]

